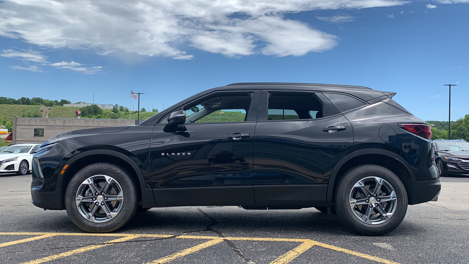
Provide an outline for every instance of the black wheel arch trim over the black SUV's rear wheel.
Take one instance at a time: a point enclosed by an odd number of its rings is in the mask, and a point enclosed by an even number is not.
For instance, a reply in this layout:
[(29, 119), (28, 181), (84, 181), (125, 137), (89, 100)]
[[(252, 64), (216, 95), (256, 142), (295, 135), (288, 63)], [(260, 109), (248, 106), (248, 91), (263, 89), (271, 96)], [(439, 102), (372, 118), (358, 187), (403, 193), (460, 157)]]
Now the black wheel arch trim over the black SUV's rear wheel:
[(393, 171), (404, 184), (408, 197), (412, 197), (412, 179), (415, 179), (414, 172), (401, 156), (384, 149), (363, 149), (348, 154), (335, 165), (327, 186), (328, 205), (332, 204), (336, 183), (340, 176), (348, 171), (348, 169), (362, 164), (376, 164)]

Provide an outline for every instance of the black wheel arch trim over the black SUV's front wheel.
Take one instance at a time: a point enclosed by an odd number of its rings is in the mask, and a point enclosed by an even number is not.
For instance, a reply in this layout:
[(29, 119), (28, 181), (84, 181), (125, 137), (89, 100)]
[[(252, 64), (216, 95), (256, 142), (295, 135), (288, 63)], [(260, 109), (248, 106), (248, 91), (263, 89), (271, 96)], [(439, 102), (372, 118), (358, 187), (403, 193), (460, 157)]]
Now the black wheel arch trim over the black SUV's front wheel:
[(142, 171), (135, 161), (133, 161), (129, 156), (113, 150), (89, 150), (74, 155), (64, 164), (64, 166), (68, 165), (68, 167), (62, 177), (60, 177), (61, 182), (57, 182), (57, 185), (60, 186), (61, 190), (62, 208), (65, 208), (65, 191), (68, 183), (76, 172), (87, 165), (99, 162), (114, 163), (126, 169), (137, 181), (138, 186), (140, 186), (137, 191), (141, 205), (144, 207), (156, 207), (153, 192), (151, 189), (146, 188)]

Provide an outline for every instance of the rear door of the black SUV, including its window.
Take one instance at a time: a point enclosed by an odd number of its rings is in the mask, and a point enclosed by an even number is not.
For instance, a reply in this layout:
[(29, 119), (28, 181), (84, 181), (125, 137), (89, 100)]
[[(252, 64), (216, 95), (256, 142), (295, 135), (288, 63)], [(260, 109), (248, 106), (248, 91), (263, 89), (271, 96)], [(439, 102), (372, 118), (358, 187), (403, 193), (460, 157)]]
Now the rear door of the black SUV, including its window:
[(322, 93), (263, 91), (254, 139), (256, 206), (324, 206), (352, 126)]

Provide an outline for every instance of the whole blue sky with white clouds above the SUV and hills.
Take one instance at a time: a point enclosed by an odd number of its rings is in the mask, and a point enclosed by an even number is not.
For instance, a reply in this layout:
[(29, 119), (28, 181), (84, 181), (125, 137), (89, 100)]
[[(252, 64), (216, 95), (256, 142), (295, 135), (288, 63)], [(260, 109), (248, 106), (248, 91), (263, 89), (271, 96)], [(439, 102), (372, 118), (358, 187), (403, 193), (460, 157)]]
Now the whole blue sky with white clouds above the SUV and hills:
[[(112, 4), (111, 4), (112, 3)], [(469, 114), (469, 0), (0, 1), (0, 96), (162, 109), (235, 82), (363, 85)], [(137, 101), (132, 100), (137, 109)]]

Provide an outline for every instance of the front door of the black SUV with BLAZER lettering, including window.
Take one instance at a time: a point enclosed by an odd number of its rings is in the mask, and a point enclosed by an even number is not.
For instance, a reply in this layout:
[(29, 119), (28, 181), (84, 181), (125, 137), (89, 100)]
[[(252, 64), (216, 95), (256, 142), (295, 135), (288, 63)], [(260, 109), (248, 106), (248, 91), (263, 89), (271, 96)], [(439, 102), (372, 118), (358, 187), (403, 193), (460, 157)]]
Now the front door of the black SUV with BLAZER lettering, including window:
[(259, 93), (212, 93), (182, 107), (187, 118), (178, 132), (155, 125), (150, 170), (157, 206), (254, 205), (251, 104)]

